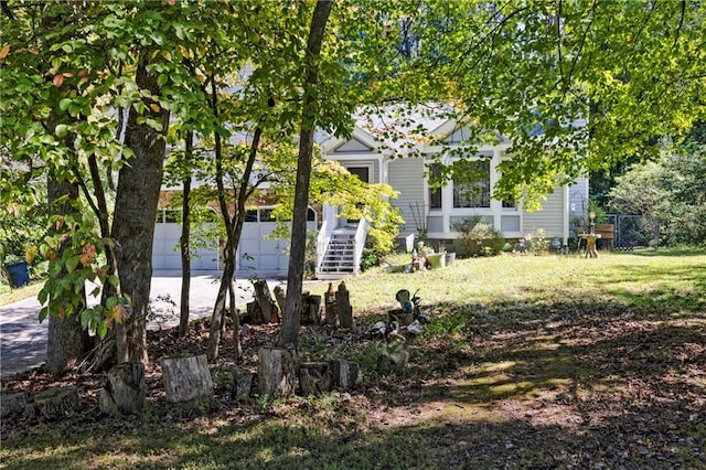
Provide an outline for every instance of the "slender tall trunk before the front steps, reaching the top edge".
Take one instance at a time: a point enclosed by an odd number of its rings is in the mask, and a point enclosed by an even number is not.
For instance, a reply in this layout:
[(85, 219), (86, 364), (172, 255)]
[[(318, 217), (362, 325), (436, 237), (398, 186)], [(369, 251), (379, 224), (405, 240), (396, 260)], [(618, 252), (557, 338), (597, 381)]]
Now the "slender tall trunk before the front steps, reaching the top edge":
[(291, 248), (289, 253), (289, 271), (287, 275), (287, 301), (282, 312), (280, 346), (299, 344), (299, 302), (303, 284), (306, 248), (307, 248), (307, 211), (309, 209), (309, 178), (311, 174), (311, 157), (313, 152), (313, 133), (315, 117), (319, 111), (317, 87), (319, 84), (319, 56), (327, 22), (333, 7), (332, 1), (319, 0), (313, 10), (304, 64), (304, 94), (301, 108), (301, 132), (299, 137), (299, 158), (297, 162), (297, 183), (295, 188), (295, 205), (291, 224)]

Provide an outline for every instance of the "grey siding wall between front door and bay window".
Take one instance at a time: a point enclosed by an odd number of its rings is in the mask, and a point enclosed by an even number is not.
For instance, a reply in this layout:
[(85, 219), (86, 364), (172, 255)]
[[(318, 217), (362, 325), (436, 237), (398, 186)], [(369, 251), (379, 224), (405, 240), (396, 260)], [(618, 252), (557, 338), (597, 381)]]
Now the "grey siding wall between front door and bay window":
[(425, 203), (424, 160), (420, 158), (395, 159), (389, 162), (387, 172), (389, 184), (395, 191), (399, 191), (397, 199), (392, 201), (399, 207), (405, 220), (405, 224), (399, 227), (399, 234), (404, 236), (416, 233), (417, 226), (411, 215), (411, 205), (419, 204), (421, 207)]

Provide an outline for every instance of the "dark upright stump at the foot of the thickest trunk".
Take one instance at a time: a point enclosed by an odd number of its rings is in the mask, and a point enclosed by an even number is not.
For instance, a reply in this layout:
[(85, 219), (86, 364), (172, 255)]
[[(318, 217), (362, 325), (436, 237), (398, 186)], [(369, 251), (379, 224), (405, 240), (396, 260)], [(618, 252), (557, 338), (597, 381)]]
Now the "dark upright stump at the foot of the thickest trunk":
[(145, 407), (145, 364), (122, 362), (108, 372), (108, 382), (98, 395), (100, 410), (109, 415), (137, 414)]

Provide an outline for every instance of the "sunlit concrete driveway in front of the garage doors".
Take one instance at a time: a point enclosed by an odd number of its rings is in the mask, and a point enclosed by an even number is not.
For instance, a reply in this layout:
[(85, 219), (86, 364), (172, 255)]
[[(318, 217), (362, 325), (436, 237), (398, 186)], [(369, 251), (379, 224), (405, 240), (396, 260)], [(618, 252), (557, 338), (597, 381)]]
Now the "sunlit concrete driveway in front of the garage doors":
[[(253, 273), (238, 273), (236, 279), (236, 302), (245, 305), (253, 299), (253, 285), (248, 278)], [(258, 273), (267, 279), (270, 291), (284, 284), (281, 273)], [(210, 317), (218, 292), (220, 271), (196, 271), (191, 277), (189, 295), (189, 317), (195, 320)], [(181, 273), (156, 271), (150, 292), (152, 310), (157, 320), (148, 324), (150, 330), (171, 328), (179, 324), (181, 299)], [(40, 303), (29, 298), (0, 307), (0, 376), (8, 377), (28, 371), (46, 361), (47, 320), (39, 322)]]

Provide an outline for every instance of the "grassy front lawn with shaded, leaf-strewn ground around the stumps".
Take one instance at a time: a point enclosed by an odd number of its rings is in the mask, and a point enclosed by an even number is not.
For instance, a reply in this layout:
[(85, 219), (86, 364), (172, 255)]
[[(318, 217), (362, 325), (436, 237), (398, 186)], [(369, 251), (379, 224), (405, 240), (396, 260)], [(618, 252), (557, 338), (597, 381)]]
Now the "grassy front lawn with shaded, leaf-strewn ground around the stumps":
[[(100, 376), (34, 371), (2, 386), (77, 384), (82, 413), (4, 418), (2, 468), (706, 468), (706, 252), (507, 255), (346, 286), (355, 328), (302, 328), (301, 354), (359, 361), (359, 389), (232, 403), (226, 350), (212, 403), (167, 404), (153, 364), (145, 413), (113, 418)], [(431, 321), (407, 368), (381, 376), (366, 331), (400, 288)], [(150, 338), (150, 356), (205, 351), (207, 331)], [(243, 366), (276, 335), (253, 327)]]

